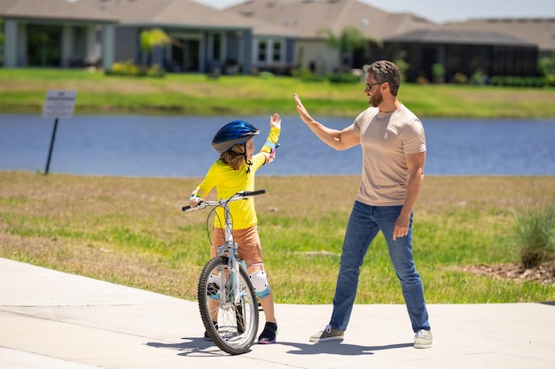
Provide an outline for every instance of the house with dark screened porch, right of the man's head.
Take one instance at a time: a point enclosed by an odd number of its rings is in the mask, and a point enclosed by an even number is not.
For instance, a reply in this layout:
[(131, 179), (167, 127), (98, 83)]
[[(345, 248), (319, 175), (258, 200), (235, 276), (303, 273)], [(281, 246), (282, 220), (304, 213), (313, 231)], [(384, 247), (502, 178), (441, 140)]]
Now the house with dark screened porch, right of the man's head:
[[(389, 55), (402, 56), (408, 64), (407, 81), (453, 81), (457, 74), (535, 76), (538, 49), (512, 35), (451, 28), (419, 29), (384, 40)], [(442, 75), (434, 75), (442, 65)]]

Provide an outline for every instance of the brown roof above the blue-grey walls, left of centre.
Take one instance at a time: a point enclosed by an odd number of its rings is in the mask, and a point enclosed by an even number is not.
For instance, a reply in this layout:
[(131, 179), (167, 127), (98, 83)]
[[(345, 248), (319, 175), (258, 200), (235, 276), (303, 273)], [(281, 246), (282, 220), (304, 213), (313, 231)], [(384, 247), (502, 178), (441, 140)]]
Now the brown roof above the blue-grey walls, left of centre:
[(122, 25), (209, 29), (252, 27), (245, 18), (190, 0), (120, 0), (117, 6), (113, 6), (113, 13), (120, 18)]

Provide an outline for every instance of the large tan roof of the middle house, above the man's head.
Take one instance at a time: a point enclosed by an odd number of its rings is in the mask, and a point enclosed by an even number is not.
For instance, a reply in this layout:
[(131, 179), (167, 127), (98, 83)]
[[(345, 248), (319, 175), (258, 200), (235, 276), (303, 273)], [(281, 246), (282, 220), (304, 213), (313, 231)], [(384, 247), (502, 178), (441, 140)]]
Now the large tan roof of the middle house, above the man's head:
[(226, 10), (252, 19), (256, 24), (254, 35), (267, 35), (274, 27), (273, 32), (281, 29), (282, 35), (287, 31), (299, 38), (319, 38), (321, 28), (339, 33), (350, 25), (369, 39), (381, 40), (410, 29), (439, 26), (409, 13), (384, 12), (357, 0), (250, 0)]

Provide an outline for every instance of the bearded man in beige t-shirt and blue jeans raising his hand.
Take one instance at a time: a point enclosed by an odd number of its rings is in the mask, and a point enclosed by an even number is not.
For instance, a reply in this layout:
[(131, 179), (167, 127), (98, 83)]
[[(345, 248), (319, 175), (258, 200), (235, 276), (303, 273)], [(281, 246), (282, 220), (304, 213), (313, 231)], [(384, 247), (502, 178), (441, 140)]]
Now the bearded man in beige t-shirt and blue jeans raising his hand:
[(424, 179), (426, 139), (422, 123), (397, 100), (399, 68), (387, 60), (368, 66), (364, 93), (370, 107), (339, 131), (313, 119), (293, 96), (302, 121), (335, 150), (361, 145), (362, 182), (343, 241), (340, 273), (333, 297), (332, 318), (310, 342), (342, 340), (356, 297), (360, 266), (379, 231), (384, 234), (391, 262), (401, 282), (415, 334), (414, 347), (432, 347), (424, 288), (412, 259), (412, 210)]

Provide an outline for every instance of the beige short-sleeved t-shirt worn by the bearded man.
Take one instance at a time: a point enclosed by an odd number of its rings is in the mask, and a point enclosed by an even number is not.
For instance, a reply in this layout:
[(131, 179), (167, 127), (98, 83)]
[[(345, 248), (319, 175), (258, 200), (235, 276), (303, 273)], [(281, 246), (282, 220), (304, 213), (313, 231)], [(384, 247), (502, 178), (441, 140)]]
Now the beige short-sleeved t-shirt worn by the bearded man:
[(390, 113), (369, 107), (349, 129), (360, 137), (363, 150), (356, 200), (371, 206), (403, 205), (410, 177), (405, 155), (426, 151), (420, 119), (403, 104)]

